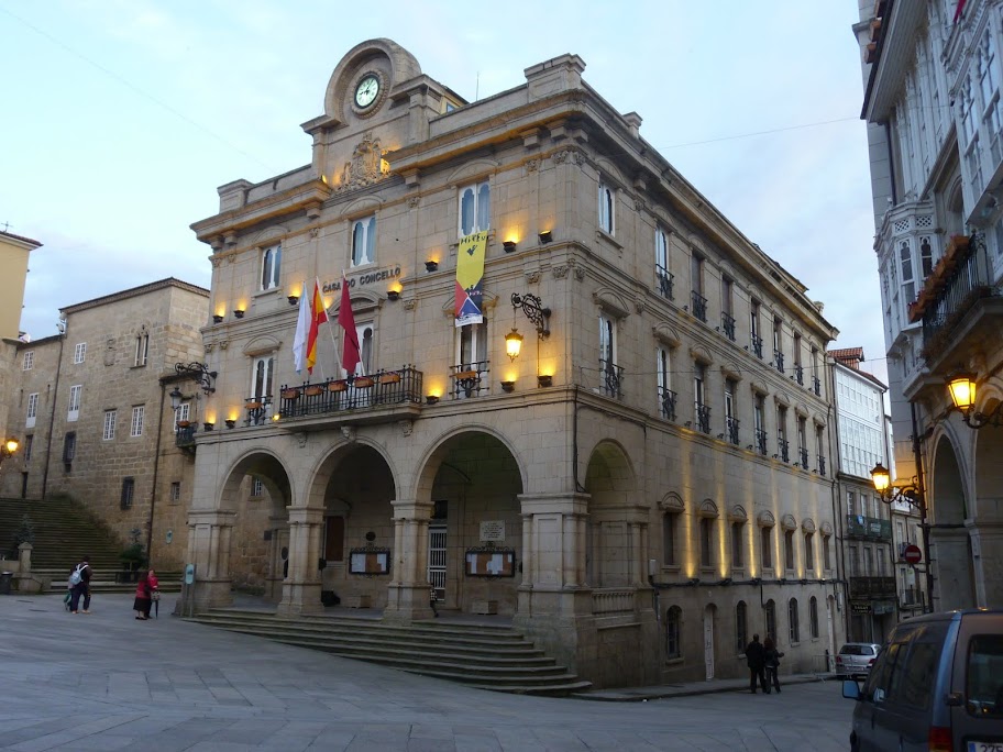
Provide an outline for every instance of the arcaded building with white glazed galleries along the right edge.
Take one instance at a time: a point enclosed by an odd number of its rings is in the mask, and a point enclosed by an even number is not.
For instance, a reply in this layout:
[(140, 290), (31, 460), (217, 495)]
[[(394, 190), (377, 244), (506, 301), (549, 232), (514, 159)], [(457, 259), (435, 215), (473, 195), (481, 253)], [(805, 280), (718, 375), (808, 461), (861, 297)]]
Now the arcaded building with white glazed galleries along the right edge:
[(899, 484), (926, 511), (933, 609), (1000, 606), (1003, 3), (858, 4)]

